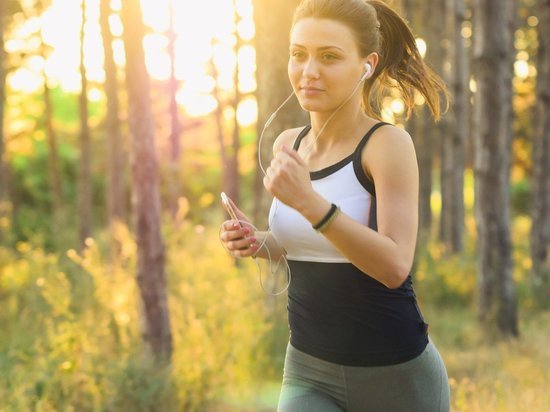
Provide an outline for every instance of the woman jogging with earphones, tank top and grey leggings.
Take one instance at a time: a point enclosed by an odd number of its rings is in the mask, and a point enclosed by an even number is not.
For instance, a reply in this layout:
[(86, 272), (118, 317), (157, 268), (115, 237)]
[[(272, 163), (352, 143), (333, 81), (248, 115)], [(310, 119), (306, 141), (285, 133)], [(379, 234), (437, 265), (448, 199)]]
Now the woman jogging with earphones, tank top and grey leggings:
[(447, 373), (410, 276), (414, 145), (379, 121), (384, 88), (398, 87), (409, 113), (419, 92), (437, 119), (445, 86), (381, 1), (302, 1), (288, 75), (311, 125), (274, 143), (264, 178), (271, 232), (255, 232), (238, 209), (243, 227), (227, 221), (221, 231), (234, 256), (269, 249), (291, 269), (278, 410), (448, 411)]

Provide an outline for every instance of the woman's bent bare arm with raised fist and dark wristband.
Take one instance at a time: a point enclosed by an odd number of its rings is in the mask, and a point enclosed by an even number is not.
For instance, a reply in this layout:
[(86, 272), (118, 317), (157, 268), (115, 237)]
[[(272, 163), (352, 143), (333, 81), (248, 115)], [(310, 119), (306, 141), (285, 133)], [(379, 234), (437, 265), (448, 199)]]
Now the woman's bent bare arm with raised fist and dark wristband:
[[(371, 137), (362, 159), (376, 185), (378, 230), (340, 213), (323, 235), (361, 271), (398, 288), (411, 270), (418, 230), (418, 164), (412, 139), (402, 129), (385, 127)], [(312, 224), (330, 209), (313, 190), (305, 162), (286, 147), (273, 160), (264, 185)]]

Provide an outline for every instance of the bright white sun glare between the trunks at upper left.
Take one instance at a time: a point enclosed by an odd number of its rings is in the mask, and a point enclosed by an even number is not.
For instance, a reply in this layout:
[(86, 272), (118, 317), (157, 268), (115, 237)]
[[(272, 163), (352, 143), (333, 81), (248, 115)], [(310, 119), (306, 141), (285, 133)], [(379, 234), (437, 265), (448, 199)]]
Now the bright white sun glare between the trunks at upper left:
[[(203, 116), (217, 107), (211, 95), (216, 83), (219, 90), (230, 92), (235, 85), (238, 64), (238, 87), (241, 93), (256, 89), (255, 50), (249, 44), (254, 38), (252, 0), (141, 0), (143, 19), (148, 30), (144, 38), (147, 70), (154, 80), (165, 81), (170, 76), (169, 41), (170, 18), (175, 32), (175, 76), (180, 88), (177, 101), (189, 116)], [(86, 1), (84, 64), (89, 80), (102, 83), (104, 52), (99, 26), (99, 0)], [(111, 0), (115, 12), (120, 11), (121, 0)], [(213, 13), (212, 11), (216, 12)], [(172, 12), (172, 14), (171, 14)], [(123, 26), (120, 17), (113, 14), (109, 25), (114, 36), (113, 53), (117, 65), (125, 62), (121, 39)], [(32, 58), (10, 73), (10, 87), (25, 93), (37, 92), (43, 84), (44, 73), (48, 82), (58, 84), (64, 91), (80, 91), (80, 27), (81, 2), (53, 0), (51, 7), (40, 19), (26, 19), (15, 29), (12, 39), (6, 41), (8, 52), (36, 54), (42, 41), (50, 46), (44, 58)], [(244, 43), (235, 53), (236, 34)], [(247, 44), (248, 43), (248, 44)], [(213, 77), (210, 61), (216, 68)], [(96, 90), (89, 94), (93, 100), (101, 99)], [(257, 115), (256, 101), (245, 100), (237, 111), (238, 121), (251, 124)]]

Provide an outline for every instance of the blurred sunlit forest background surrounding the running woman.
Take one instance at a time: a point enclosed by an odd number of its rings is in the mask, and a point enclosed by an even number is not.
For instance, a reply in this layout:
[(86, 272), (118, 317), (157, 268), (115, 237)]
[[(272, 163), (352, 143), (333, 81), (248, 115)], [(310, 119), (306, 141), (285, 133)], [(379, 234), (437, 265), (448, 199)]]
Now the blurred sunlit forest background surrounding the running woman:
[[(221, 246), (219, 192), (267, 226), (297, 3), (0, 0), (0, 411), (275, 410), (286, 297)], [(550, 1), (388, 3), (452, 95), (381, 115), (453, 411), (550, 410)]]

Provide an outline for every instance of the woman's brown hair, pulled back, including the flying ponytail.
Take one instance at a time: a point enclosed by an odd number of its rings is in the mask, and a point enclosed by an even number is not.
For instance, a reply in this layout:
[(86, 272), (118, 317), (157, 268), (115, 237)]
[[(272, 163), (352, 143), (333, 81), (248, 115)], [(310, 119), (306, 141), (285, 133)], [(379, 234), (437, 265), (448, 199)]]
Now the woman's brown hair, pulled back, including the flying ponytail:
[[(379, 63), (363, 85), (363, 108), (380, 119), (385, 91), (397, 87), (405, 102), (407, 118), (420, 93), (434, 119), (441, 117), (442, 100), (449, 107), (445, 83), (422, 59), (407, 22), (380, 0), (303, 0), (296, 8), (292, 26), (313, 17), (336, 20), (353, 33), (361, 57), (376, 52)], [(442, 99), (443, 97), (443, 99)]]

